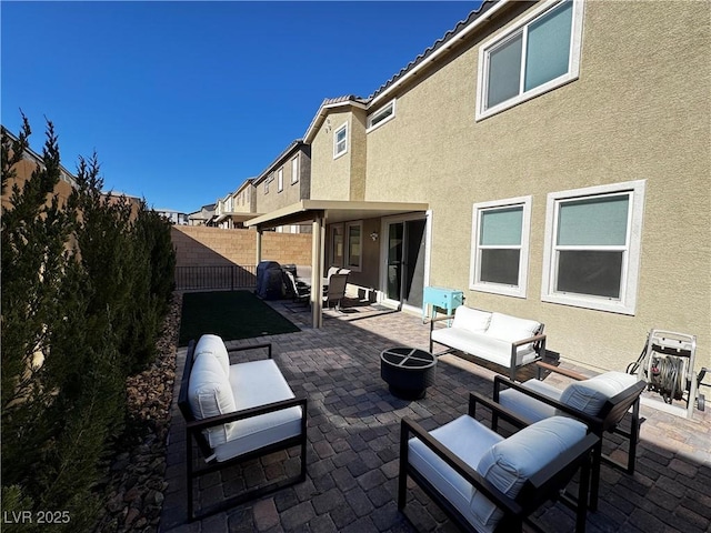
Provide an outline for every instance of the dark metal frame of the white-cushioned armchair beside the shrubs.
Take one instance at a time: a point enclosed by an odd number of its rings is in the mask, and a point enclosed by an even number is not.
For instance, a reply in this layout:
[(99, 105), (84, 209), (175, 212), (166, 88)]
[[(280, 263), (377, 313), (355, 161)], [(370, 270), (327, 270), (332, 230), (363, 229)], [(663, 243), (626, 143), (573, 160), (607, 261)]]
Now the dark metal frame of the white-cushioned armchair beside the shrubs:
[[(238, 505), (246, 501), (262, 496), (264, 494), (269, 494), (279, 489), (283, 489), (286, 486), (292, 485), (294, 483), (299, 483), (306, 481), (307, 477), (307, 399), (306, 398), (294, 398), (291, 400), (283, 400), (280, 402), (273, 402), (266, 405), (260, 405), (257, 408), (244, 409), (241, 411), (234, 411), (233, 413), (222, 414), (219, 416), (211, 416), (209, 419), (197, 420), (192, 414), (192, 410), (190, 409), (190, 402), (188, 400), (188, 386), (190, 383), (190, 373), (192, 372), (192, 363), (193, 355), (196, 350), (196, 341), (192, 340), (188, 344), (188, 353), (186, 354), (186, 365), (182, 373), (182, 379), (180, 382), (180, 394), (178, 396), (178, 406), (180, 408), (180, 412), (182, 413), (186, 420), (186, 463), (187, 463), (187, 480), (188, 480), (188, 522), (192, 522), (197, 519), (202, 519), (220, 511), (224, 511), (231, 506)], [(252, 344), (249, 346), (241, 346), (236, 349), (228, 350), (228, 354), (232, 354), (236, 352), (242, 352), (246, 350), (257, 350), (257, 349), (267, 349), (269, 359), (272, 358), (271, 343), (262, 343), (262, 344)], [(212, 449), (208, 443), (208, 440), (203, 435), (203, 430), (208, 428), (212, 428), (216, 425), (221, 425), (228, 422), (234, 422), (238, 420), (244, 420), (252, 416), (259, 416), (261, 414), (271, 413), (274, 411), (280, 411), (282, 409), (289, 409), (293, 406), (301, 408), (301, 433), (297, 436), (292, 436), (289, 439), (284, 439), (279, 442), (274, 442), (267, 446), (262, 446), (252, 452), (243, 453), (237, 455), (228, 461), (217, 461), (217, 459), (212, 459), (208, 461), (208, 457), (212, 455)], [(198, 447), (206, 460), (207, 466), (197, 467), (194, 466), (194, 457), (192, 453), (193, 440), (198, 444)], [(278, 452), (281, 450), (287, 450), (293, 446), (301, 447), (301, 467), (298, 475), (278, 480), (274, 483), (270, 483), (268, 485), (262, 485), (257, 489), (242, 492), (236, 496), (223, 500), (222, 502), (214, 504), (212, 506), (207, 507), (200, 514), (196, 514), (193, 512), (193, 482), (196, 479), (209, 474), (211, 472), (217, 472), (222, 469), (227, 469), (229, 466), (233, 466), (236, 464), (243, 463), (246, 461), (261, 457), (268, 455), (273, 452)]]

